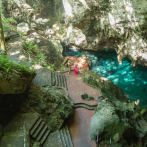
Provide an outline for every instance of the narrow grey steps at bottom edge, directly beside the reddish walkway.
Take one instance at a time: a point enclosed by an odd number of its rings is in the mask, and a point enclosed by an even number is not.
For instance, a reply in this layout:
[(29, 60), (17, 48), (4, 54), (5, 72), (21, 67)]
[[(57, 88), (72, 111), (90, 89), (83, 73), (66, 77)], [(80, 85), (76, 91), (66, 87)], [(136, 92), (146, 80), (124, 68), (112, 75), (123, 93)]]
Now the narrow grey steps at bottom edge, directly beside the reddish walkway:
[(67, 125), (63, 126), (59, 132), (63, 147), (73, 147)]

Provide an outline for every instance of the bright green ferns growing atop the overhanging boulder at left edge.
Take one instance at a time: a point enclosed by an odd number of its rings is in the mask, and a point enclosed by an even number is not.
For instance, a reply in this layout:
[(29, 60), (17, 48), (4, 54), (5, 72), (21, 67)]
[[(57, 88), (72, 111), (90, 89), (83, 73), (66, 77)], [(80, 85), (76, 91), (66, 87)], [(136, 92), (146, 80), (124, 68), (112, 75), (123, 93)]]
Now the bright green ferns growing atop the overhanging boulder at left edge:
[(4, 69), (5, 71), (9, 72), (10, 69), (13, 69), (14, 72), (18, 73), (17, 70), (15, 69), (21, 69), (23, 71), (27, 71), (27, 72), (30, 72), (30, 73), (33, 73), (35, 70), (34, 68), (29, 68), (29, 67), (26, 67), (26, 63), (23, 62), (21, 64), (17, 64), (13, 61), (9, 61), (9, 58), (8, 56), (4, 55), (3, 54), (4, 51), (1, 51), (0, 52), (0, 68), (1, 69)]

